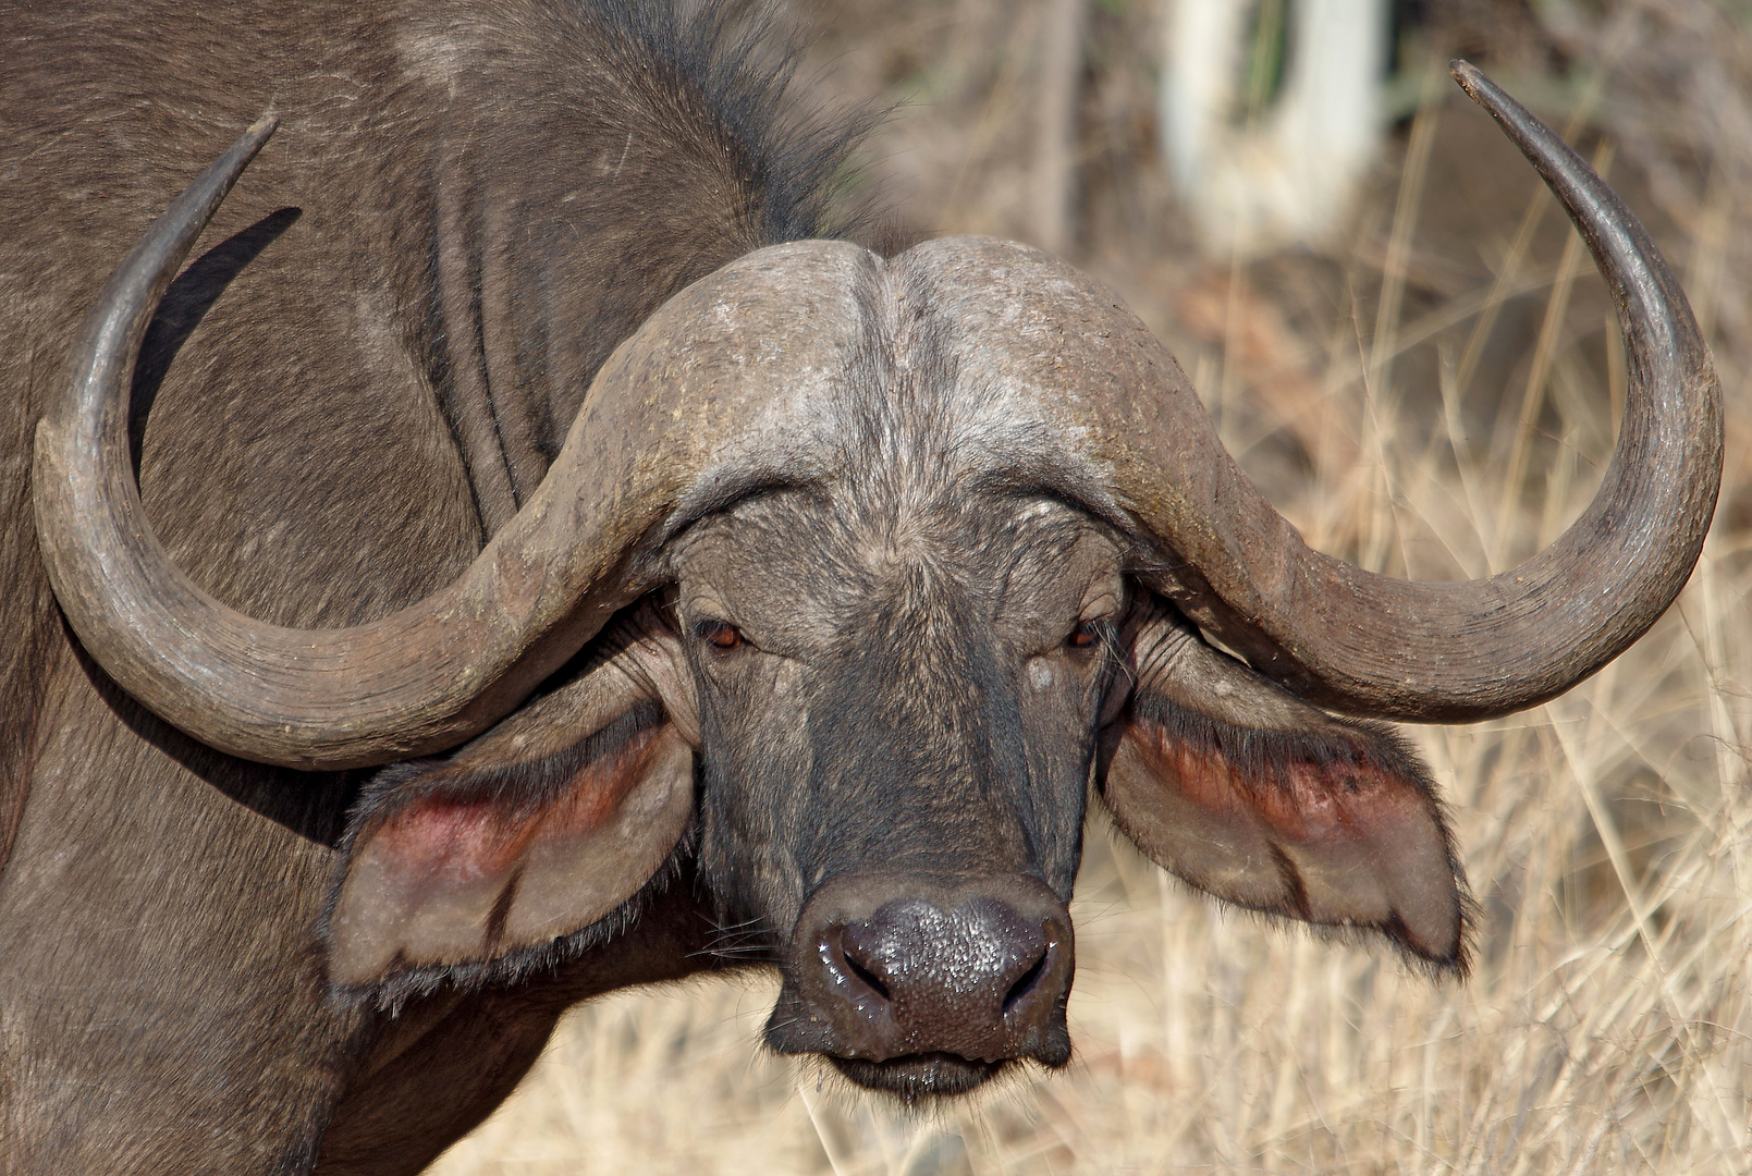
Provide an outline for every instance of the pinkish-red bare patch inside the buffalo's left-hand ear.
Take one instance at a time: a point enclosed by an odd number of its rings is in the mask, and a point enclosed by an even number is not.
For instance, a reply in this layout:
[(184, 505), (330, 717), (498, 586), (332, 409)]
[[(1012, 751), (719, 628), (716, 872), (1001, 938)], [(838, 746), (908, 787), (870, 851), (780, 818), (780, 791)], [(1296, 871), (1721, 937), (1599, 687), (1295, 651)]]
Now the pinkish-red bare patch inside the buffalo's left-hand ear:
[(578, 771), (543, 804), (513, 804), (494, 796), (427, 796), (392, 813), (371, 834), (382, 854), (408, 878), (443, 876), (463, 883), (498, 878), (540, 838), (587, 836), (603, 827), (657, 754), (661, 727), (646, 727), (610, 755)]

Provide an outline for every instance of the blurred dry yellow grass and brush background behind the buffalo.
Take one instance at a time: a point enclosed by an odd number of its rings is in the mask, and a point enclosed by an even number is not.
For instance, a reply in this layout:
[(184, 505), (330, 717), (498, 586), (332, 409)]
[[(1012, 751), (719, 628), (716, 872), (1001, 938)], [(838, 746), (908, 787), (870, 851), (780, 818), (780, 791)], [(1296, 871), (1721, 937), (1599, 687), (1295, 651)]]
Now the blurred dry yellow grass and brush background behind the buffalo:
[(1466, 56), (1650, 228), (1727, 468), (1678, 605), (1568, 696), (1414, 727), (1482, 904), (1465, 985), (1223, 913), (1097, 813), (1072, 1066), (902, 1113), (764, 1055), (776, 985), (575, 1011), (438, 1165), (485, 1172), (1752, 1171), (1752, 0), (795, 0), (802, 88), (892, 107), (883, 237), (1109, 282), (1310, 543), (1500, 571), (1587, 503), (1624, 361)]

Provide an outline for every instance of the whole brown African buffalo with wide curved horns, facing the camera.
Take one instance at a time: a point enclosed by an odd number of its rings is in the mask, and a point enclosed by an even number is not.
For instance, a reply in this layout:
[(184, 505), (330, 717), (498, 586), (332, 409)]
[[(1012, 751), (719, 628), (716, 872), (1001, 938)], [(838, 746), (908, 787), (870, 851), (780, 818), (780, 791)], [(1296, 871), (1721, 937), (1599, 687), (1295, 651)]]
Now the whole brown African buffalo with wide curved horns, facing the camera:
[(5, 5), (0, 1169), (417, 1171), (731, 925), (774, 1050), (1062, 1066), (1091, 785), (1191, 885), (1465, 969), (1372, 720), (1552, 698), (1685, 582), (1719, 393), (1635, 217), (1456, 67), (1631, 389), (1552, 547), (1391, 580), (1063, 263), (832, 240), (855, 119), (732, 28)]

